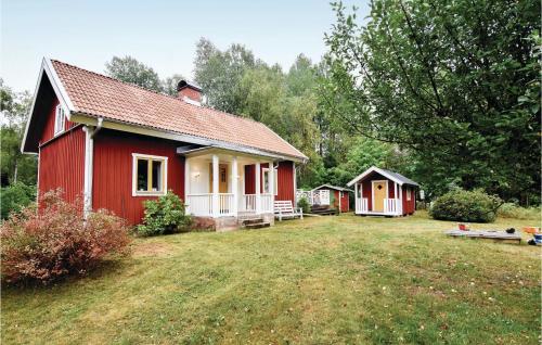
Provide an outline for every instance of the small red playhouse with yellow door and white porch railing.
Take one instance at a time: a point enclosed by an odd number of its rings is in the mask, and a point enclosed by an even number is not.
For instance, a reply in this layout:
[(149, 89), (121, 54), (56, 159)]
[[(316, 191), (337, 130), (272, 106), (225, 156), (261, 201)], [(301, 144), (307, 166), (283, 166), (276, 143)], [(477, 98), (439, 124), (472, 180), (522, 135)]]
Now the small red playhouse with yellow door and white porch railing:
[(357, 215), (406, 216), (416, 209), (420, 186), (401, 174), (373, 166), (348, 182), (351, 186)]

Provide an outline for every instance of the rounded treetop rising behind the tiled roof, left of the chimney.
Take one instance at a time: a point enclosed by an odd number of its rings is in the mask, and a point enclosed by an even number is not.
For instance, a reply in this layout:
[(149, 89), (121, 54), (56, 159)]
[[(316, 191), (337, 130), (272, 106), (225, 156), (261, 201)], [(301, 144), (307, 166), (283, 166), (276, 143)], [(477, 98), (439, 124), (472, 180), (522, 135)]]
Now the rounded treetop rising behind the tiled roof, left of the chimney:
[(158, 74), (131, 56), (113, 56), (105, 63), (105, 73), (115, 79), (136, 84), (147, 90), (162, 92), (163, 87)]

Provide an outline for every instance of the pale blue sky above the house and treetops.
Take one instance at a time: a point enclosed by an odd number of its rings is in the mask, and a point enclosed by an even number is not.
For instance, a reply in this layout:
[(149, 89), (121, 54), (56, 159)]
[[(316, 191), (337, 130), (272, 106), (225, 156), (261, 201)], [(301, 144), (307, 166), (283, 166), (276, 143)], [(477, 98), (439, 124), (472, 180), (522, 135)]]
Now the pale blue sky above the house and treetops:
[[(346, 3), (365, 16), (366, 1)], [(15, 91), (34, 91), (42, 56), (103, 72), (112, 56), (131, 55), (160, 77), (192, 78), (199, 37), (288, 68), (299, 53), (320, 61), (334, 23), (325, 0), (1, 0), (0, 11), (0, 75)]]

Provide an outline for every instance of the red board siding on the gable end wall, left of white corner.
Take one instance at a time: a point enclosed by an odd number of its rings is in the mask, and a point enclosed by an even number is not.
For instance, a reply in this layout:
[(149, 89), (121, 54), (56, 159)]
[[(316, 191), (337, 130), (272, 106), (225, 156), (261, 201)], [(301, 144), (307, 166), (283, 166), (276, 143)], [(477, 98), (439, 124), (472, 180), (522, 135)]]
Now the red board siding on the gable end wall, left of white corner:
[(73, 202), (82, 195), (85, 179), (85, 132), (82, 127), (40, 148), (38, 188), (42, 194), (62, 188), (64, 199)]

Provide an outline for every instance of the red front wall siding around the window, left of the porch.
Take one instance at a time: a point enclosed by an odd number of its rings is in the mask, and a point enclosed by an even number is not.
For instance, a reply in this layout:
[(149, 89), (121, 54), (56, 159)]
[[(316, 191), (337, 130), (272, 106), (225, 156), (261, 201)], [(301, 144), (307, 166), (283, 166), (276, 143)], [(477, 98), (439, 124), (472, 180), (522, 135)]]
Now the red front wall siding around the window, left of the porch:
[(132, 196), (132, 153), (168, 157), (167, 188), (184, 199), (184, 158), (177, 155), (182, 143), (102, 129), (94, 138), (94, 209), (106, 208), (136, 225), (143, 217), (143, 201)]

